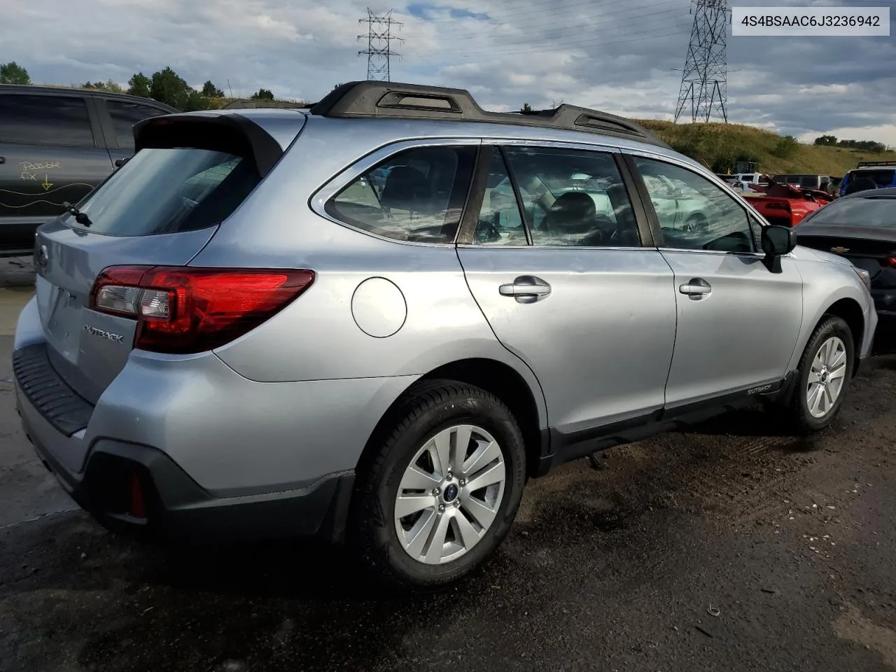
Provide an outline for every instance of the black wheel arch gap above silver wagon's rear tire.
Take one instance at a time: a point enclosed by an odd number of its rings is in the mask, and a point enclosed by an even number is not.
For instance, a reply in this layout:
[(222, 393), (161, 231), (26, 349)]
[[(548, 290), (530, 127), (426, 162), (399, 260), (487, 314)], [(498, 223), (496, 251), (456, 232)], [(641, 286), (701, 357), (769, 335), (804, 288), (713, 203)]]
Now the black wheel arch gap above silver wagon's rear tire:
[(445, 380), (467, 383), (491, 392), (507, 405), (520, 426), (526, 449), (526, 473), (529, 476), (534, 475), (541, 452), (538, 404), (535, 395), (529, 383), (512, 366), (485, 358), (461, 359), (439, 366), (410, 384), (408, 389), (392, 402), (389, 409), (383, 413), (383, 418), (376, 424), (364, 452), (361, 453), (358, 469), (364, 469), (366, 462), (373, 459), (380, 441), (392, 431), (392, 425), (400, 421), (398, 413), (409, 397), (426, 391), (434, 381)]

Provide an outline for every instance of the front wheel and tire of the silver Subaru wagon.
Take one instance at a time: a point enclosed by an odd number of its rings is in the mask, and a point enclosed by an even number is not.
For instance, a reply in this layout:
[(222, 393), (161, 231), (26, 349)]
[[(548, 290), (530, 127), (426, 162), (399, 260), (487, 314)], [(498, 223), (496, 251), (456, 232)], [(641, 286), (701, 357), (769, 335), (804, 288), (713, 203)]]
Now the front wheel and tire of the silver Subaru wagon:
[[(842, 363), (838, 358), (842, 358)], [(837, 417), (849, 388), (855, 358), (849, 325), (836, 315), (824, 317), (803, 350), (794, 388), (783, 409), (788, 425), (796, 434), (821, 431)], [(841, 381), (839, 387), (834, 385), (836, 380)]]

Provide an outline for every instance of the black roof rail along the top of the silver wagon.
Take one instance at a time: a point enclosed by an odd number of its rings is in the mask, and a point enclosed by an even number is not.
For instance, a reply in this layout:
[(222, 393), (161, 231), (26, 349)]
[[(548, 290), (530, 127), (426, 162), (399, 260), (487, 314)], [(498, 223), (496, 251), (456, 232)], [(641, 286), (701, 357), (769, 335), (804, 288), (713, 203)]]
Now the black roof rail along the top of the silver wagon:
[(310, 112), (313, 115), (342, 118), (452, 120), (540, 126), (612, 135), (669, 148), (652, 131), (623, 116), (573, 105), (561, 105), (556, 109), (525, 114), (487, 112), (478, 106), (467, 90), (419, 84), (349, 82), (315, 103)]

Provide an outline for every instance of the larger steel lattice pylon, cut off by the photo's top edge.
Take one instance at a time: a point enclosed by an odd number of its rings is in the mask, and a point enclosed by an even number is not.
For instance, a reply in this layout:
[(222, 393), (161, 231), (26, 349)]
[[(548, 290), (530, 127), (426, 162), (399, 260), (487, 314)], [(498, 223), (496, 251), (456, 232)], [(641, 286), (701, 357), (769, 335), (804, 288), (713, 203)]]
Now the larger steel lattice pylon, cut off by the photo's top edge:
[(694, 0), (694, 26), (687, 47), (685, 71), (675, 121), (691, 108), (691, 123), (708, 122), (716, 113), (728, 123), (728, 0)]

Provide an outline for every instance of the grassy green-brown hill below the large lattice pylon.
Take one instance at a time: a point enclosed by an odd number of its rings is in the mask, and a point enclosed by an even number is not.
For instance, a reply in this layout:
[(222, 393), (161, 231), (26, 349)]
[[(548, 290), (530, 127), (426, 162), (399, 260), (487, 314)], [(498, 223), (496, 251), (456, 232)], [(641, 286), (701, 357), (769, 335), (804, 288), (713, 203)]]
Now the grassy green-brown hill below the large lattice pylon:
[(765, 173), (809, 173), (839, 177), (858, 161), (896, 162), (896, 151), (873, 153), (844, 147), (792, 142), (770, 131), (741, 124), (673, 124), (639, 119), (676, 151), (718, 173), (734, 170), (737, 160), (756, 161)]

